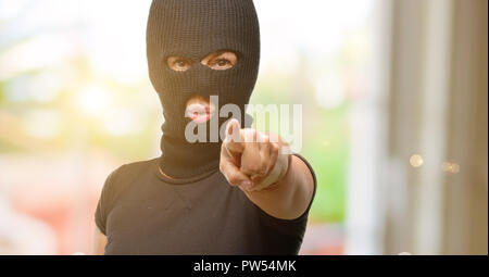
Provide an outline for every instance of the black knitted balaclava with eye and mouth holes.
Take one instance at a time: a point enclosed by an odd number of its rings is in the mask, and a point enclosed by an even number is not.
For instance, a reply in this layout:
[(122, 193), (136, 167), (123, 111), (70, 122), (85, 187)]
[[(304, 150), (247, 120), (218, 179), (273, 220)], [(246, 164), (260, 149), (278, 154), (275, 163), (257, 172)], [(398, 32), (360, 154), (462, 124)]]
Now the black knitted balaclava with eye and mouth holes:
[[(210, 53), (226, 50), (237, 63), (216, 71), (201, 64)], [(148, 18), (147, 55), (151, 83), (163, 105), (161, 169), (176, 178), (199, 176), (218, 167), (218, 142), (190, 143), (185, 138), (185, 103), (199, 95), (218, 96), (218, 106), (233, 103), (244, 114), (256, 81), (260, 29), (252, 0), (153, 0)], [(168, 67), (168, 56), (193, 61), (185, 72)], [(214, 116), (218, 116), (218, 111)], [(228, 118), (218, 118), (218, 126)], [(238, 118), (244, 123), (243, 118)], [(208, 125), (209, 133), (209, 122)], [(208, 136), (209, 138), (209, 136)], [(208, 140), (209, 141), (209, 140)]]

